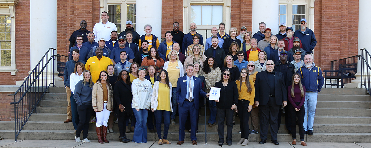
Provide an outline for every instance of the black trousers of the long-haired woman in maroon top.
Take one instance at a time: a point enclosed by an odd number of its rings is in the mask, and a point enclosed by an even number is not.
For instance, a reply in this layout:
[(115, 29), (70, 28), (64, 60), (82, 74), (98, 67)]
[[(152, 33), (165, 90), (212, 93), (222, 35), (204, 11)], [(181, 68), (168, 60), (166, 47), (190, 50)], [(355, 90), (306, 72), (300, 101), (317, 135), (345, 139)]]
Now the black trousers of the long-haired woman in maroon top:
[[(295, 104), (299, 105), (300, 102), (295, 102)], [(304, 114), (305, 114), (304, 106), (302, 106), (299, 111), (295, 111), (295, 107), (293, 107), (290, 103), (288, 103), (287, 106), (289, 108), (290, 117), (291, 117), (290, 120), (291, 120), (292, 139), (296, 139), (296, 123), (298, 123), (300, 141), (304, 141), (304, 128), (303, 128)], [(298, 120), (296, 120), (296, 117), (298, 118)]]

